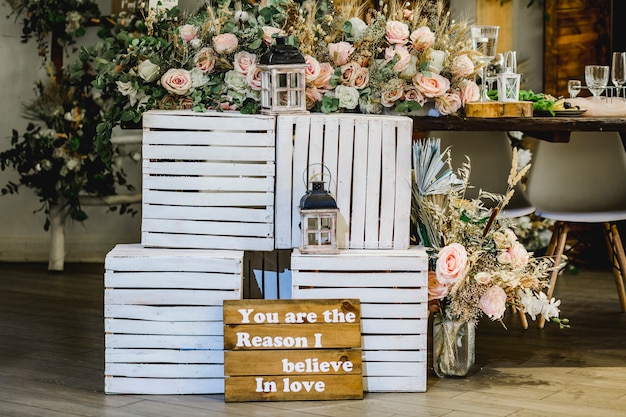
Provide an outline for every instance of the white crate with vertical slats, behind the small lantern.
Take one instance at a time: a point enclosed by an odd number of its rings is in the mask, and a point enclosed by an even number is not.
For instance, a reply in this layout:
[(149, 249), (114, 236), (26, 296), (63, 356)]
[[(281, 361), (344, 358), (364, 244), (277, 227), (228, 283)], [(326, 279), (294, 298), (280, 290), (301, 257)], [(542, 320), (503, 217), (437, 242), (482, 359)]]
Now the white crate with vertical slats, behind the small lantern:
[(305, 181), (322, 171), (321, 164), (340, 211), (340, 248), (409, 247), (410, 118), (285, 115), (278, 116), (276, 131), (277, 248), (300, 245), (298, 204)]

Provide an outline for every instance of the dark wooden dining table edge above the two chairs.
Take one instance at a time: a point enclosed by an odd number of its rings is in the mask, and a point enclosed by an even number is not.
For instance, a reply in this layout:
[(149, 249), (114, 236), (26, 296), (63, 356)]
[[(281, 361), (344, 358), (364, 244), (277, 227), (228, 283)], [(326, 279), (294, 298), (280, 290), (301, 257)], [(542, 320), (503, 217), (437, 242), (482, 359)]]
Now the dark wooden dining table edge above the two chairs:
[(622, 117), (463, 117), (414, 116), (414, 137), (433, 130), (521, 131), (550, 142), (568, 142), (570, 133), (620, 132), (626, 141), (626, 118)]

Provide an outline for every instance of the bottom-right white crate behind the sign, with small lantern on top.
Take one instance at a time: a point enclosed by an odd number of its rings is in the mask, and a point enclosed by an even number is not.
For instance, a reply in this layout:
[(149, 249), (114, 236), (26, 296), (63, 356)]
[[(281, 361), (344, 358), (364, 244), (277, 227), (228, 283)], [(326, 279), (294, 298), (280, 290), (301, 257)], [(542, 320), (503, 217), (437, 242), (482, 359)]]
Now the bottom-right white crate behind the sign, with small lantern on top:
[(428, 258), (423, 249), (291, 257), (293, 298), (361, 300), (363, 387), (426, 391)]

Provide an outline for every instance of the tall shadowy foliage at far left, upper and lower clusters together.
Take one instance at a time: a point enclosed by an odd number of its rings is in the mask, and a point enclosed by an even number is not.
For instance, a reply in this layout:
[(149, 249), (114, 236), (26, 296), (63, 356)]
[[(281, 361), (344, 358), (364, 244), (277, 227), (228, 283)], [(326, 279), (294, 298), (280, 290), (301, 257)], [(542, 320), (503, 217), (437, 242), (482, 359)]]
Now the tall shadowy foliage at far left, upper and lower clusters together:
[[(43, 61), (49, 42), (52, 49), (75, 43), (85, 26), (100, 16), (97, 4), (88, 0), (16, 3), (13, 14), (23, 16), (22, 40), (35, 37)], [(105, 137), (97, 133), (104, 120), (103, 100), (91, 85), (92, 76), (80, 74), (71, 82), (69, 68), (60, 66), (62, 56), (52, 55), (52, 63), (44, 62), (48, 78), (35, 83), (35, 98), (23, 104), (29, 120), (26, 130), (20, 134), (14, 129), (11, 147), (0, 152), (0, 169), (13, 169), (19, 175), (19, 181), (8, 181), (1, 188), (2, 195), (16, 194), (22, 186), (33, 189), (42, 203), (37, 211), (45, 214), (45, 230), (50, 227), (53, 205), (62, 209), (64, 217), (83, 221), (87, 214), (79, 195), (104, 197), (117, 194), (119, 187), (133, 189), (120, 167), (121, 154), (108, 140), (110, 131)], [(137, 212), (128, 204), (110, 210)]]

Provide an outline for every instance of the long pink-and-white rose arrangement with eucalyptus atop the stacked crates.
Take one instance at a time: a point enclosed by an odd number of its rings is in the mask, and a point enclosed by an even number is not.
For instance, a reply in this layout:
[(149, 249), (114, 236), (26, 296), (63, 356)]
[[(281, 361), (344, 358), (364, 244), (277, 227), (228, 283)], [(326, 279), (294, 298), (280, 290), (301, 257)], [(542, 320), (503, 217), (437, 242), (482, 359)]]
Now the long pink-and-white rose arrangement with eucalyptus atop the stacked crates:
[[(217, 0), (197, 13), (151, 9), (144, 25), (119, 27), (83, 51), (73, 73), (92, 71), (110, 126), (146, 110), (256, 113), (260, 57), (287, 37), (308, 64), (307, 108), (324, 113), (409, 112), (434, 103), (457, 113), (475, 101), (475, 53), (464, 23), (444, 2)], [(144, 30), (145, 29), (145, 30)]]

